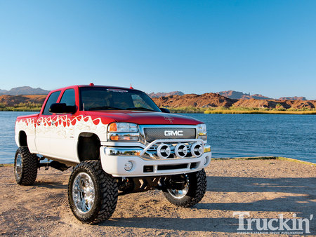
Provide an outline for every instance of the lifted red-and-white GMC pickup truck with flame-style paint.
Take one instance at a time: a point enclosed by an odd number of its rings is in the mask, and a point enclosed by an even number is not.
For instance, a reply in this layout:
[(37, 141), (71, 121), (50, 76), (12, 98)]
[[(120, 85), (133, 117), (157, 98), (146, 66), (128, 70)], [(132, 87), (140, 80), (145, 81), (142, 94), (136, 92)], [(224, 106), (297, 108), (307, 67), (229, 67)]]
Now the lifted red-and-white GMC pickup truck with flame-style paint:
[(51, 91), (39, 114), (17, 118), (15, 180), (32, 185), (41, 166), (72, 166), (70, 208), (90, 224), (108, 219), (119, 195), (150, 189), (190, 207), (206, 191), (206, 139), (204, 123), (159, 109), (140, 90), (70, 86)]

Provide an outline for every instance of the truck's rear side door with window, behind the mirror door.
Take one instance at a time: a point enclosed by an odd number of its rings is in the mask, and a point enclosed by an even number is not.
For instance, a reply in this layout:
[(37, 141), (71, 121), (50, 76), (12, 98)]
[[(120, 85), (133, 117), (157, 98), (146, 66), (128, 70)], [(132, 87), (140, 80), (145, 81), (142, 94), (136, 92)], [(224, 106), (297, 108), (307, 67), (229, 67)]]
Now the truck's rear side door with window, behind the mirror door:
[(41, 114), (39, 114), (39, 118), (37, 118), (37, 125), (35, 129), (35, 145), (37, 147), (38, 153), (44, 156), (51, 155), (50, 139), (53, 114), (49, 112), (49, 107), (51, 107), (51, 104), (57, 102), (59, 95), (60, 90), (55, 91), (49, 95), (43, 111)]

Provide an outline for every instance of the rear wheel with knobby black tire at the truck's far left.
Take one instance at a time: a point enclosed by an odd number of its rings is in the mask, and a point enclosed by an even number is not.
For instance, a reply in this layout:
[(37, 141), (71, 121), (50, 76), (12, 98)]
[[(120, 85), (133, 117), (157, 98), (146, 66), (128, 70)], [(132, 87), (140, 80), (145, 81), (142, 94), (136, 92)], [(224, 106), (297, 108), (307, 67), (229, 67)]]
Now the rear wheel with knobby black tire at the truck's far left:
[(30, 153), (27, 147), (19, 147), (14, 157), (14, 176), (16, 182), (20, 185), (34, 184), (37, 179), (37, 164), (38, 158), (36, 154)]

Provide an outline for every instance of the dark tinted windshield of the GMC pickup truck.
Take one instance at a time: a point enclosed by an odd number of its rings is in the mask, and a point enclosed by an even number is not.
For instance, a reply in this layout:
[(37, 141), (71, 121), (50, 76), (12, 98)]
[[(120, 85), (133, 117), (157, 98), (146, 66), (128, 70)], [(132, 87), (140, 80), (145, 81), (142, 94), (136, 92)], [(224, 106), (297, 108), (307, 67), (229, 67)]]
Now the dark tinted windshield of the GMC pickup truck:
[(156, 104), (139, 90), (106, 87), (81, 87), (80, 110), (143, 110), (157, 111)]

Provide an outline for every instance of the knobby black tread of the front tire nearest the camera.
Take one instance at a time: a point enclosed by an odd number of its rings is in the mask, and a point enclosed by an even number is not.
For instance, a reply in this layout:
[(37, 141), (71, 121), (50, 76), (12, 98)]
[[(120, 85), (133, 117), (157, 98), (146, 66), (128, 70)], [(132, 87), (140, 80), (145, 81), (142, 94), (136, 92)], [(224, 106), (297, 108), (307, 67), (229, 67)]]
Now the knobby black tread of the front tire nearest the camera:
[(98, 211), (92, 215), (89, 218), (82, 218), (76, 215), (72, 208), (72, 196), (70, 195), (70, 192), (72, 190), (72, 184), (69, 182), (68, 184), (68, 201), (70, 203), (70, 207), (72, 209), (72, 212), (74, 213), (74, 216), (79, 219), (79, 221), (88, 223), (88, 224), (97, 224), (99, 222), (103, 222), (106, 219), (109, 219), (116, 206), (117, 206), (117, 198), (118, 198), (118, 188), (117, 188), (117, 182), (112, 177), (112, 175), (107, 174), (101, 165), (100, 161), (83, 161), (76, 165), (74, 167), (72, 174), (70, 175), (70, 180), (72, 180), (72, 177), (74, 175), (77, 175), (75, 170), (78, 169), (86, 169), (86, 170), (92, 170), (92, 172), (96, 175), (96, 180), (100, 189), (100, 208), (98, 208)]

